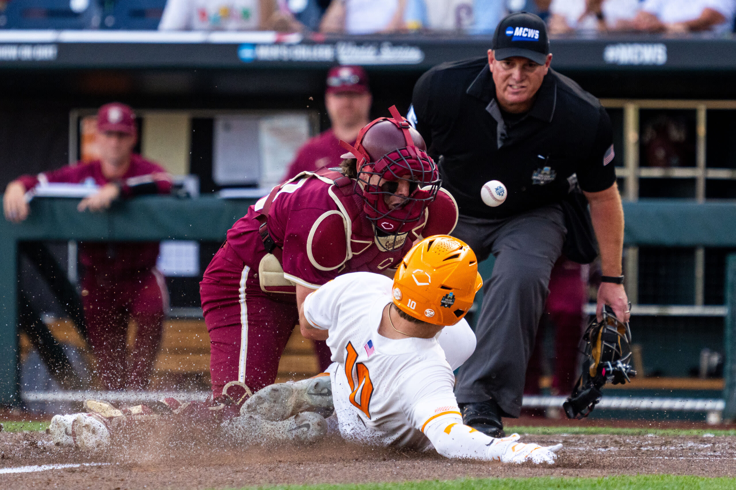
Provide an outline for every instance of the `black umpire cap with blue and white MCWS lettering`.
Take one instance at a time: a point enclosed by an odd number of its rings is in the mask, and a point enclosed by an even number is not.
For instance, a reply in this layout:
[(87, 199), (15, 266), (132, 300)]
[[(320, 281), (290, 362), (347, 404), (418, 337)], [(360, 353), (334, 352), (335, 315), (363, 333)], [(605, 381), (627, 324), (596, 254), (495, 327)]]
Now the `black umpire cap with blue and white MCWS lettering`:
[(496, 60), (520, 56), (544, 65), (550, 54), (545, 21), (528, 12), (506, 15), (493, 34), (493, 51)]

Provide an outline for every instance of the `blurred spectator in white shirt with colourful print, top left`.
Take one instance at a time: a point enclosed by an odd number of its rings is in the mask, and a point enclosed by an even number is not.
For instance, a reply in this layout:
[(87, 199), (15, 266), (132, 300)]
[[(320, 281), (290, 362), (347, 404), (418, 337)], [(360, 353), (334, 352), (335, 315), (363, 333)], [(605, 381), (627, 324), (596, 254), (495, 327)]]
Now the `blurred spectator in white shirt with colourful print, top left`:
[[(302, 1), (306, 9), (308, 1)], [(294, 0), (291, 3), (295, 3)], [(275, 29), (284, 32), (301, 30), (301, 24), (287, 7), (277, 0), (168, 0), (158, 29), (161, 31)]]

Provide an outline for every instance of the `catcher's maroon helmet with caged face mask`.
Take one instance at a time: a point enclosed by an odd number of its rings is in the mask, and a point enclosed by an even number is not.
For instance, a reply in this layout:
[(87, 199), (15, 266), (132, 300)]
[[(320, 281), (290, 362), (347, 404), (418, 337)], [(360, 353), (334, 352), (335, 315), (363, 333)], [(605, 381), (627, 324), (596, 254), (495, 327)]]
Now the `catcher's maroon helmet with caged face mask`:
[[(355, 185), (362, 189), (364, 212), (386, 251), (403, 247), (406, 235), (422, 219), (441, 184), (422, 136), (396, 106), (389, 112), (392, 118), (378, 118), (361, 129), (355, 146), (340, 141), (350, 152), (342, 158), (357, 160)], [(392, 197), (400, 198), (397, 206), (386, 203)]]

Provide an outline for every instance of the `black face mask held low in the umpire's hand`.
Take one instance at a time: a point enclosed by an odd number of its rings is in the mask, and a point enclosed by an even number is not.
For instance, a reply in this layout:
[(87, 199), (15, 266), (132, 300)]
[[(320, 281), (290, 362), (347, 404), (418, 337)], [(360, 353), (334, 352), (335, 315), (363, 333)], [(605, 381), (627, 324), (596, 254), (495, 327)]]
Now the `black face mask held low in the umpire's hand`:
[(601, 387), (606, 383), (623, 384), (637, 372), (631, 369), (631, 330), (609, 306), (604, 306), (600, 322), (593, 319), (588, 326), (581, 350), (585, 355), (583, 372), (573, 394), (562, 404), (570, 419), (582, 419), (601, 401)]

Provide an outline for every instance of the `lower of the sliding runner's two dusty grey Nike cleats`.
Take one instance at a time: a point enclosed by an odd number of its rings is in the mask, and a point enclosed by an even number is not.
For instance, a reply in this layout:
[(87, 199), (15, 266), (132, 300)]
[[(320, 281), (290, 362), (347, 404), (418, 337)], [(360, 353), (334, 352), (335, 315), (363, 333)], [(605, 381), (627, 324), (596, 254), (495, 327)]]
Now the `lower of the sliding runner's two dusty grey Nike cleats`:
[(226, 436), (233, 442), (267, 441), (316, 442), (327, 434), (327, 422), (320, 414), (304, 412), (275, 422), (255, 414), (233, 417), (222, 424)]

